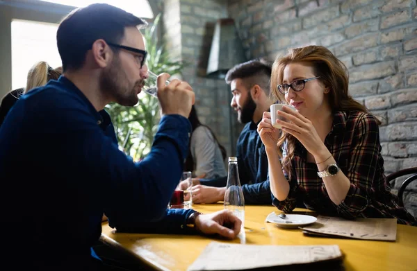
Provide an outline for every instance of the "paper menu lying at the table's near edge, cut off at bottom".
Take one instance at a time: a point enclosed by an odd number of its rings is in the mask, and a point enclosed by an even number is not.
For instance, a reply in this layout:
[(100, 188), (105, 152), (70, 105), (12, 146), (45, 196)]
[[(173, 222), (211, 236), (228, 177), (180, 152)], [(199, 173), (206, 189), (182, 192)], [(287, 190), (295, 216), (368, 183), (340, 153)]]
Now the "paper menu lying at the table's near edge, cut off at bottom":
[(240, 245), (211, 242), (187, 271), (247, 270), (341, 259), (338, 245)]

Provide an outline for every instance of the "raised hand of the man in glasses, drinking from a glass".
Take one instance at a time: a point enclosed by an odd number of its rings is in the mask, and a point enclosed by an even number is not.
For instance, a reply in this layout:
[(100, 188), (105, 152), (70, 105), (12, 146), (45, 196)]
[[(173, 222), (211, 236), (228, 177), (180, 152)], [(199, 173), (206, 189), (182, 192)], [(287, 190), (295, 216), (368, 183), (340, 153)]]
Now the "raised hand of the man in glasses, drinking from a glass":
[(194, 105), (195, 101), (193, 88), (188, 85), (188, 82), (178, 79), (174, 79), (168, 85), (165, 85), (165, 81), (169, 77), (168, 73), (161, 73), (156, 80), (161, 114), (179, 114), (188, 119), (191, 106)]

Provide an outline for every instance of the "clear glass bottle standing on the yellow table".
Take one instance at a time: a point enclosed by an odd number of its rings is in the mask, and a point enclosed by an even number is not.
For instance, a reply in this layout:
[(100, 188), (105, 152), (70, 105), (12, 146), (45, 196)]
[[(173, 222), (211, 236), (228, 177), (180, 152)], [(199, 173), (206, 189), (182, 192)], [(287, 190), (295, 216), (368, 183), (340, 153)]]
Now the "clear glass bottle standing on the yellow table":
[(242, 186), (240, 186), (238, 158), (229, 157), (229, 170), (227, 175), (226, 192), (224, 193), (224, 209), (234, 213), (245, 223), (245, 199), (243, 198)]

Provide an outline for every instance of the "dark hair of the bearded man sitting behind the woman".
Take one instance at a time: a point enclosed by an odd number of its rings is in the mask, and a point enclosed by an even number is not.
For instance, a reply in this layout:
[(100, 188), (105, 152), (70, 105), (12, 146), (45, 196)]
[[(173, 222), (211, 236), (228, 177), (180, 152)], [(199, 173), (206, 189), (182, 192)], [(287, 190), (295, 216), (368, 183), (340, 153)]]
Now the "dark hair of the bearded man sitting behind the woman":
[(271, 65), (264, 60), (250, 60), (229, 69), (225, 80), (230, 84), (235, 79), (242, 79), (247, 89), (259, 85), (269, 95), (271, 72)]

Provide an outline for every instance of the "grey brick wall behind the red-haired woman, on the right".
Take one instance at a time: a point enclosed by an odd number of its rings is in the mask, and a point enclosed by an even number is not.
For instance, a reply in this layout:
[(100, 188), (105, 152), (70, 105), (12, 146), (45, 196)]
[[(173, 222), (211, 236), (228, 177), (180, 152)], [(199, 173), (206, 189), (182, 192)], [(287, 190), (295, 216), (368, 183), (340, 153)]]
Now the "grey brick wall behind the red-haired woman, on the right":
[[(228, 10), (248, 58), (274, 60), (307, 44), (331, 49), (350, 71), (352, 96), (380, 116), (386, 173), (417, 166), (415, 0), (231, 0)], [(417, 182), (410, 186), (417, 192)], [(416, 194), (407, 198), (417, 214)]]

